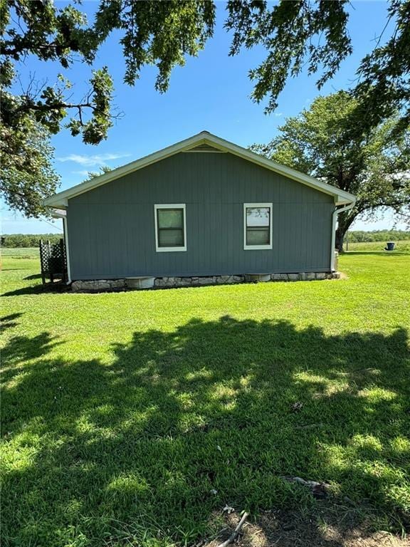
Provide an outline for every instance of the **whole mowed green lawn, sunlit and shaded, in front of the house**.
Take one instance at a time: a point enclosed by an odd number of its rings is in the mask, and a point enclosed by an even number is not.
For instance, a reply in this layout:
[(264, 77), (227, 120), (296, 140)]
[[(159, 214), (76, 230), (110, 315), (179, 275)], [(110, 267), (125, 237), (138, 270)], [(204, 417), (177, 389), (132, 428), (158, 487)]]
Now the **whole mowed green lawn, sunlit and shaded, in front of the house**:
[(192, 545), (225, 504), (314, 510), (282, 476), (409, 526), (409, 254), (346, 254), (341, 281), (100, 294), (3, 267), (2, 545)]

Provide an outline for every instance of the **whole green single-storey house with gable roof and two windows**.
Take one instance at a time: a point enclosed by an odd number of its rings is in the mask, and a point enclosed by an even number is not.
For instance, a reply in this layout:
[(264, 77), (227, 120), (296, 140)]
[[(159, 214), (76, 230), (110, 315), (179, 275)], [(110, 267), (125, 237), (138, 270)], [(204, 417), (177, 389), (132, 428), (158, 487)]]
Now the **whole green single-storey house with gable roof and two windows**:
[(107, 288), (332, 276), (337, 213), (354, 200), (203, 131), (45, 204), (63, 210), (70, 281)]

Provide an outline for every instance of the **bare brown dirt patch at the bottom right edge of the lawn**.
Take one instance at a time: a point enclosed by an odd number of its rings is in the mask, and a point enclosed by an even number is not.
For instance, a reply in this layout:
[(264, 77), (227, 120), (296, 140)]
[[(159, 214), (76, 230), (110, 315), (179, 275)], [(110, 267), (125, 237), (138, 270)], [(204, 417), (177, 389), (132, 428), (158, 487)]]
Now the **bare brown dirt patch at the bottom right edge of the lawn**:
[[(240, 514), (224, 517), (226, 529), (209, 547), (217, 547), (235, 528)], [(409, 547), (409, 538), (374, 531), (361, 512), (327, 501), (317, 503), (314, 514), (265, 511), (245, 523), (235, 547)]]

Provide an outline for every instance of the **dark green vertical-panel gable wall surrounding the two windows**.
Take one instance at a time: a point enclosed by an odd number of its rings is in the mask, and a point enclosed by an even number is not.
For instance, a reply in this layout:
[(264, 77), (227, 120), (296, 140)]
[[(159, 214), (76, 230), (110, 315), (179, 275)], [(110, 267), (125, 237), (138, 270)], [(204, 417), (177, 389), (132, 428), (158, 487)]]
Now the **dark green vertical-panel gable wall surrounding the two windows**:
[[(243, 249), (243, 203), (273, 202), (273, 249)], [(186, 251), (156, 252), (154, 204), (186, 204)], [(333, 197), (229, 153), (180, 152), (69, 199), (71, 277), (330, 271)]]

